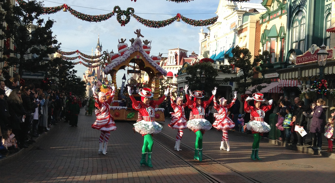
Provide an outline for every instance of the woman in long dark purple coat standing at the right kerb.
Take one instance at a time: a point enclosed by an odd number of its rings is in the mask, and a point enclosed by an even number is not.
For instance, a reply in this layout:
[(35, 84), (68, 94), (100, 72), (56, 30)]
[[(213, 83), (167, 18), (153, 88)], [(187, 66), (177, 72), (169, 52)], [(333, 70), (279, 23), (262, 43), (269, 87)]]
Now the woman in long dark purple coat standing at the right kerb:
[(311, 126), (311, 133), (312, 133), (312, 149), (313, 150), (322, 150), (322, 133), (325, 132), (325, 125), (326, 125), (326, 111), (328, 106), (326, 102), (322, 99), (318, 99), (317, 106), (313, 106), (313, 118), (312, 118), (312, 126)]

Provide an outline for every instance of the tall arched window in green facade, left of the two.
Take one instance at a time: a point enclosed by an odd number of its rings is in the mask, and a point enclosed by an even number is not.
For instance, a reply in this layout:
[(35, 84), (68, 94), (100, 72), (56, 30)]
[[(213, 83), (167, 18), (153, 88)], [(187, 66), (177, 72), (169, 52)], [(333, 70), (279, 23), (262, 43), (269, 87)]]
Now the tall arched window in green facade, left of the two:
[(306, 17), (305, 13), (299, 11), (293, 18), (292, 28), (292, 49), (300, 49), (305, 51), (305, 36), (306, 36)]

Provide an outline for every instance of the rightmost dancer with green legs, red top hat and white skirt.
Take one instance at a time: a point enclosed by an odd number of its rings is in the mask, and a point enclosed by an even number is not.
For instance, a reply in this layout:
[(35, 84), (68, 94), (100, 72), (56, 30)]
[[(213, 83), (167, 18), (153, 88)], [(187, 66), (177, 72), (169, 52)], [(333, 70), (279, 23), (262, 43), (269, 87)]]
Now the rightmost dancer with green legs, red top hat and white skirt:
[[(261, 160), (258, 157), (259, 142), (261, 141), (263, 133), (271, 130), (270, 125), (264, 122), (264, 116), (265, 113), (272, 108), (273, 100), (269, 100), (269, 105), (261, 106), (262, 102), (265, 101), (265, 99), (263, 99), (263, 94), (255, 93), (252, 96), (252, 98), (248, 97), (244, 102), (244, 111), (246, 113), (250, 113), (250, 122), (246, 124), (246, 127), (248, 130), (251, 130), (254, 135), (251, 159)], [(250, 100), (255, 100), (255, 107), (248, 105), (248, 101)]]

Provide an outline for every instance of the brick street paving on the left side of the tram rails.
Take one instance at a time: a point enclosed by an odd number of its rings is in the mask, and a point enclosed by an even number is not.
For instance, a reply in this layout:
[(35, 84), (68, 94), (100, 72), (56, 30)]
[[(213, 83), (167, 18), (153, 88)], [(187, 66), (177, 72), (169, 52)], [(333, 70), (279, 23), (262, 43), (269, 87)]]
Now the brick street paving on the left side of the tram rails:
[(130, 123), (117, 123), (107, 155), (99, 155), (100, 131), (90, 127), (95, 117), (84, 114), (81, 109), (78, 127), (58, 123), (30, 150), (0, 164), (0, 182), (208, 182), (157, 144), (154, 168), (141, 167), (143, 137), (134, 134)]

